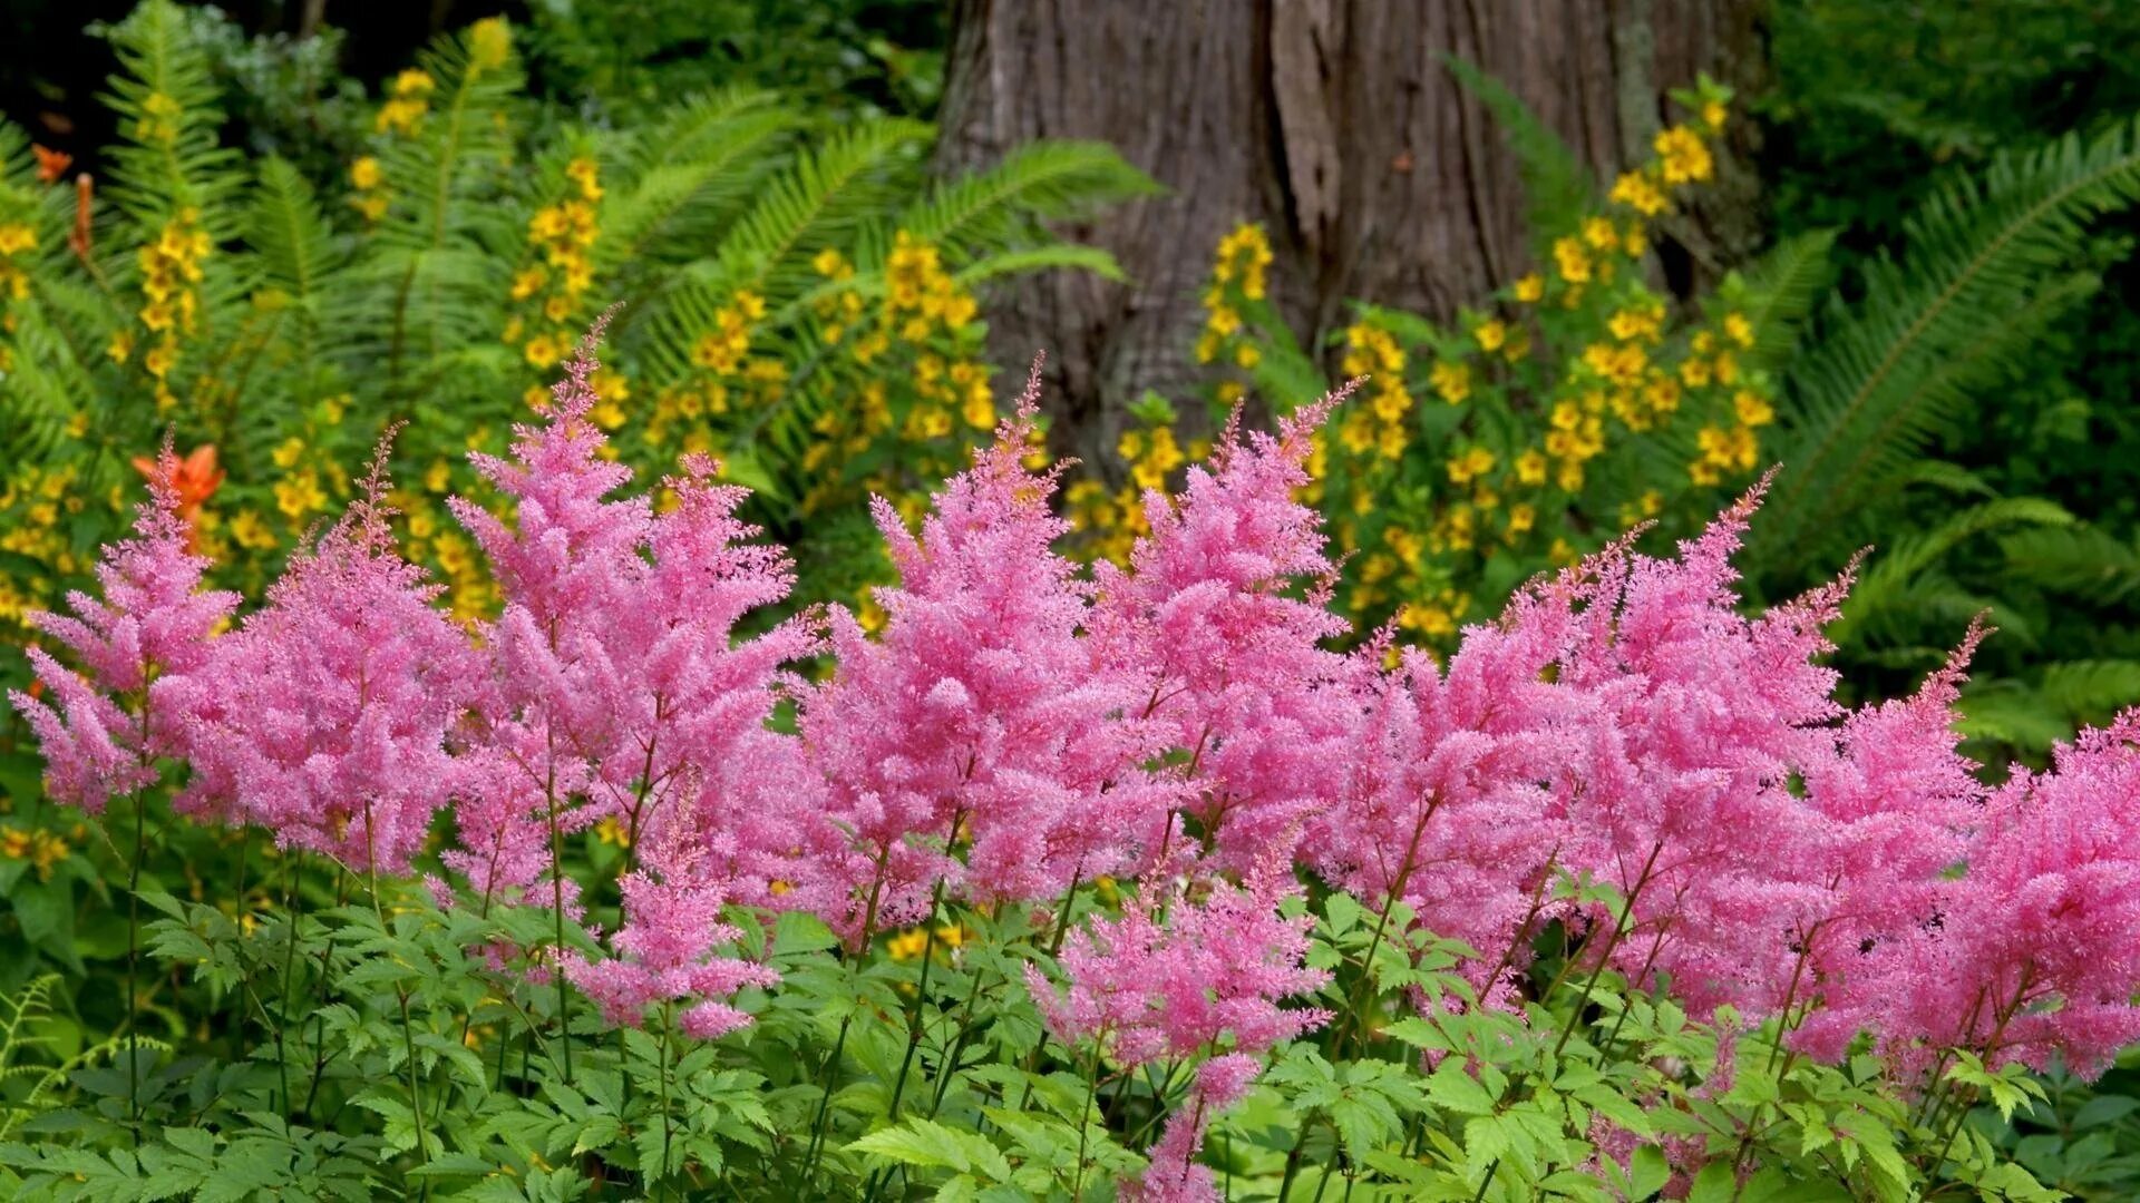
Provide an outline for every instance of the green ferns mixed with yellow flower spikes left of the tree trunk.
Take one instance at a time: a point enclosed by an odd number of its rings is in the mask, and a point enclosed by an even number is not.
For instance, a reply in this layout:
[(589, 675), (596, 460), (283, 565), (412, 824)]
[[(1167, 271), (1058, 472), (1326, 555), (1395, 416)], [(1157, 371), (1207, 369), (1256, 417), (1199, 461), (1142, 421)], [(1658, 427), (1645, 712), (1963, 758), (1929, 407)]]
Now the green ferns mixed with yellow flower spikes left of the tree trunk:
[(475, 584), (439, 501), (477, 488), (464, 454), (501, 450), (520, 398), (539, 402), (612, 306), (597, 420), (631, 460), (719, 454), (794, 544), (805, 512), (835, 518), (813, 522), (832, 546), (798, 552), (850, 563), (835, 587), (858, 589), (875, 572), (847, 537), (865, 488), (903, 494), (993, 426), (978, 293), (1119, 276), (1042, 223), (1153, 188), (1091, 143), (933, 180), (918, 120), (738, 86), (629, 124), (561, 122), (526, 94), (503, 19), (396, 75), (353, 158), (321, 173), (319, 148), (293, 143), (248, 163), (225, 146), (227, 34), (165, 0), (111, 28), (122, 141), (88, 201), (0, 124), (0, 447), (24, 465), (0, 492), (24, 561), (4, 621), (77, 578), (165, 432), (212, 447), (201, 539), (257, 582), (379, 435), (419, 417), (396, 503), (415, 554)]

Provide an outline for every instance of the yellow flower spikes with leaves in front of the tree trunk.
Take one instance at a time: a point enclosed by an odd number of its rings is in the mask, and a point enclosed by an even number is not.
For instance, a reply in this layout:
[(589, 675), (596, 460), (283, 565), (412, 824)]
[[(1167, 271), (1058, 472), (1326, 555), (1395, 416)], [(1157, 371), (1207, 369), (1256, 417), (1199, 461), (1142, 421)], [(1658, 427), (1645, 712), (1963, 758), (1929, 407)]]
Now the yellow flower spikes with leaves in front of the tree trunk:
[[(1342, 375), (1370, 375), (1374, 385), (1338, 413), (1310, 471), (1320, 479), (1312, 488), (1333, 499), (1333, 542), (1355, 552), (1346, 599), (1363, 623), (1395, 610), (1406, 629), (1447, 640), (1485, 582), (1500, 591), (1541, 559), (1573, 561), (1566, 518), (1611, 522), (1584, 512), (1584, 490), (1616, 428), (1673, 424), (1699, 447), (1697, 484), (1757, 462), (1755, 432), (1774, 422), (1774, 405), (1761, 372), (1742, 364), (1755, 330), (1736, 308), (1736, 285), (1723, 289), (1729, 308), (1688, 323), (1671, 317), (1669, 298), (1641, 270), (1650, 223), (1716, 176), (1723, 92), (1703, 83), (1688, 105), (1699, 120), (1661, 133), (1652, 161), (1549, 238), (1541, 270), (1513, 280), (1494, 308), (1462, 310), (1453, 330), (1434, 334), (1367, 310), (1344, 332)], [(1239, 287), (1248, 263), (1267, 261), (1258, 248), (1252, 229), (1220, 246), (1196, 342), (1205, 364), (1230, 366), (1239, 353), (1254, 364), (1267, 353)], [(1233, 383), (1218, 390), (1222, 402), (1239, 396)], [(1419, 409), (1415, 396), (1442, 405)], [(1671, 492), (1669, 482), (1637, 486), (1622, 524), (1661, 514)], [(1072, 486), (1070, 503), (1083, 527), (1126, 524), (1098, 484)], [(1489, 567), (1496, 557), (1517, 563)]]

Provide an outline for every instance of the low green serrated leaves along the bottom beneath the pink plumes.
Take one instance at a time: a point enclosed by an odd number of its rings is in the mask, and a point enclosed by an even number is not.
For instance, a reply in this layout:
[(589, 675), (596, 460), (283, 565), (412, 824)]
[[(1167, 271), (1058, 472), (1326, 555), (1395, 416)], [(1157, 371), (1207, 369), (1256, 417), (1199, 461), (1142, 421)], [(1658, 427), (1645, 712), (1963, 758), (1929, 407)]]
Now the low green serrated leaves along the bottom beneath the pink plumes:
[[(205, 835), (160, 807), (152, 822)], [(571, 871), (606, 882), (601, 848), (586, 839)], [(511, 953), (544, 944), (544, 912), (383, 888), (374, 908), (347, 871), (272, 852), (208, 901), (146, 886), (150, 1008), (184, 1017), (184, 1042), (143, 1040), (133, 1085), (124, 1042), (66, 1055), (41, 1034), (60, 1030), (41, 1030), (54, 978), (17, 987), (0, 1182), (28, 1199), (1106, 1199), (1186, 1107), (1192, 1066), (1132, 1070), (1044, 1036), (1023, 970), (1055, 972), (1055, 923), (1034, 908), (939, 910), (860, 955), (813, 918), (732, 912), (740, 953), (783, 983), (738, 995), (751, 1027), (691, 1042), (578, 1010), (567, 1036)], [(1624, 912), (1609, 890), (1562, 893)], [(1115, 901), (1106, 884), (1066, 899)], [(1385, 920), (1320, 895), (1312, 916), (1310, 963), (1333, 978), (1310, 1002), (1335, 1019), (1273, 1049), (1216, 1120), (1207, 1156), (1235, 1197), (2057, 1199), (2039, 1179), (2108, 1179), (2091, 1132), (2131, 1122), (2057, 1075), (1967, 1055), (1950, 1102), (1915, 1107), (1872, 1057), (1813, 1064), (1774, 1021), (1695, 1023), (1616, 974), (1571, 974), (1584, 942), (1558, 929), (1522, 1012), (1481, 1008), (1457, 972), (1470, 950), (1402, 905)], [(2059, 1139), (2016, 1135), (2039, 1130)]]

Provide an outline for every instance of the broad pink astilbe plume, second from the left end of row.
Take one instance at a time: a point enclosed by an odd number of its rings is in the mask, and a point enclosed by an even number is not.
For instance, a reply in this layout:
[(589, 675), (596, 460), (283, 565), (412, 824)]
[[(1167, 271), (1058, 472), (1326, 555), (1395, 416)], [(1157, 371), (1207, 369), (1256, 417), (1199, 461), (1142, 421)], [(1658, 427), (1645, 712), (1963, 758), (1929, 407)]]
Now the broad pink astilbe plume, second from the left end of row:
[(379, 473), (291, 557), (268, 604), (167, 685), (195, 773), (178, 809), (257, 824), (357, 871), (404, 873), (447, 798), (445, 734), (475, 655), (430, 604), (439, 587), (400, 559)]

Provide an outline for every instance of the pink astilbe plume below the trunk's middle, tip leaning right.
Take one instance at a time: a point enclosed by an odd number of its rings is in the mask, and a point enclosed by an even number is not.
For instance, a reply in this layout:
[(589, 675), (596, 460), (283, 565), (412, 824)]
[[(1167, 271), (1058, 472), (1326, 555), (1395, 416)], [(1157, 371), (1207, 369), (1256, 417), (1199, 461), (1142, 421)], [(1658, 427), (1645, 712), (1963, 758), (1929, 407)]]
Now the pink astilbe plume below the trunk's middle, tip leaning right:
[(1228, 426), (1179, 503), (1145, 494), (1151, 533), (1130, 569), (1096, 569), (1100, 651), (1153, 674), (1145, 711), (1188, 756), (1188, 809), (1235, 871), (1327, 805), (1329, 766), (1359, 715), (1355, 661), (1320, 646), (1350, 629), (1329, 610), (1338, 565), (1320, 518), (1295, 499), (1314, 430), (1355, 385), (1299, 409), (1275, 437)]

